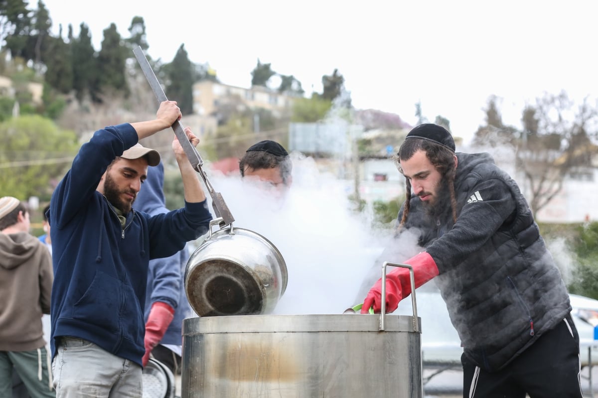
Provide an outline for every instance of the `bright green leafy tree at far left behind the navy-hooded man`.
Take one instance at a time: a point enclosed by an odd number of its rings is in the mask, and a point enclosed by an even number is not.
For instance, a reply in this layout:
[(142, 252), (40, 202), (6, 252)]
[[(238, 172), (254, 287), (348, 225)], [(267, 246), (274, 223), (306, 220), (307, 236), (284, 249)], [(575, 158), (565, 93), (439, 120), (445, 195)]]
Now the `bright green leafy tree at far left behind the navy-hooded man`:
[(39, 115), (0, 123), (0, 196), (50, 200), (57, 181), (77, 152), (73, 131), (60, 130)]

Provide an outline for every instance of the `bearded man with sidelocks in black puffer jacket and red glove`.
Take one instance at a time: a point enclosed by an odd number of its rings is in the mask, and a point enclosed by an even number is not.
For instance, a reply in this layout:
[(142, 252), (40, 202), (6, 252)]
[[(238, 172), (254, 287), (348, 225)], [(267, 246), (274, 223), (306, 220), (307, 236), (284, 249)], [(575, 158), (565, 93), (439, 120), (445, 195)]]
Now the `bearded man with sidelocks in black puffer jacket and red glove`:
[[(579, 336), (569, 295), (517, 183), (489, 154), (455, 153), (449, 131), (419, 125), (396, 159), (407, 182), (398, 234), (425, 251), (405, 264), (416, 287), (437, 277), (463, 345), (464, 397), (575, 397)], [(364, 300), (380, 312), (382, 281)], [(387, 275), (386, 311), (411, 293)]]

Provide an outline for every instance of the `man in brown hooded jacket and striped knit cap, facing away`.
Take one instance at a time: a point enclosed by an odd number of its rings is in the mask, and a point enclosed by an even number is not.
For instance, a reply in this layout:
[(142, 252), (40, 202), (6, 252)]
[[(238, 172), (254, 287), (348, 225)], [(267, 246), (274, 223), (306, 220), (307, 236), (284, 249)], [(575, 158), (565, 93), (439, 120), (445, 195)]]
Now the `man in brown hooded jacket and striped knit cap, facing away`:
[(0, 198), (0, 397), (12, 395), (13, 369), (32, 398), (56, 396), (41, 322), (50, 313), (52, 260), (29, 227), (25, 204)]

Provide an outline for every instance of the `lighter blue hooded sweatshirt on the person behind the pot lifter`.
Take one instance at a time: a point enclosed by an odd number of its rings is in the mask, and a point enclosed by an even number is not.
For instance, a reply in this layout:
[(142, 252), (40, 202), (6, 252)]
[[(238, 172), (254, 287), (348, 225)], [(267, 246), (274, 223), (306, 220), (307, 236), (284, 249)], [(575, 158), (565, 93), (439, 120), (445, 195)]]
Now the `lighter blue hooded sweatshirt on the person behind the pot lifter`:
[[(148, 177), (139, 191), (133, 208), (151, 216), (168, 213), (164, 197), (164, 165), (148, 167)], [(167, 258), (149, 261), (147, 293), (145, 296), (145, 322), (152, 304), (164, 302), (175, 310), (175, 317), (164, 333), (160, 344), (182, 344), (182, 322), (193, 314), (185, 294), (185, 267), (189, 254), (183, 249)]]

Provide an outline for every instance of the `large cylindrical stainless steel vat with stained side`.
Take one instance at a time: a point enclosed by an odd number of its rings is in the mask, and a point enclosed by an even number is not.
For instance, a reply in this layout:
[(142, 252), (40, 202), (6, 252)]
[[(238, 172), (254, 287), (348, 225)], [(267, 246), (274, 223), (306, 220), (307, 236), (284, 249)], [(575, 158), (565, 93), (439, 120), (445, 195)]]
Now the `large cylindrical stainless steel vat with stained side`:
[(183, 322), (182, 398), (421, 398), (411, 317), (197, 317)]

